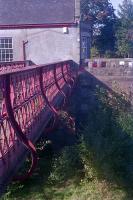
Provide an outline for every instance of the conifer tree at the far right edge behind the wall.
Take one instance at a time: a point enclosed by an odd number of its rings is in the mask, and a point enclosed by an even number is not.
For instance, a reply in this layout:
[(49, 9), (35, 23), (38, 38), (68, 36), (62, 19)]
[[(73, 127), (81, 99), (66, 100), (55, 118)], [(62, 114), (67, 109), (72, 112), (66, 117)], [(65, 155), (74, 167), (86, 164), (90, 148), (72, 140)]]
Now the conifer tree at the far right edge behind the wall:
[(118, 55), (133, 57), (133, 1), (123, 0), (119, 6), (117, 30)]

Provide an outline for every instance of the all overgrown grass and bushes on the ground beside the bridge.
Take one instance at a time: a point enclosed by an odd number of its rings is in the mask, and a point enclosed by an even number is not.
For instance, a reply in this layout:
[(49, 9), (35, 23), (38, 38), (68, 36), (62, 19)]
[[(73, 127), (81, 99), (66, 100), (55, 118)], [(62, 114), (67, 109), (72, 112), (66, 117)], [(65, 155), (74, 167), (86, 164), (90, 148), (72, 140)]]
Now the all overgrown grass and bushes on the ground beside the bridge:
[(2, 200), (133, 199), (130, 102), (123, 94), (102, 88), (95, 92), (98, 104), (88, 113), (86, 125), (81, 124), (80, 143), (64, 147), (58, 155), (39, 152), (33, 177), (11, 184)]

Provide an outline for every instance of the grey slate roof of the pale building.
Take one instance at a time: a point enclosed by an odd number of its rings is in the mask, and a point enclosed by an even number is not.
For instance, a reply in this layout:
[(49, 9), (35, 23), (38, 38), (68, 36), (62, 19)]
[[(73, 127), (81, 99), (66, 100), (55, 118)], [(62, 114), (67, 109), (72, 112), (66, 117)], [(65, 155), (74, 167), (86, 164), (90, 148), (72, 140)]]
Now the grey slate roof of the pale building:
[(0, 0), (0, 26), (73, 23), (75, 0)]

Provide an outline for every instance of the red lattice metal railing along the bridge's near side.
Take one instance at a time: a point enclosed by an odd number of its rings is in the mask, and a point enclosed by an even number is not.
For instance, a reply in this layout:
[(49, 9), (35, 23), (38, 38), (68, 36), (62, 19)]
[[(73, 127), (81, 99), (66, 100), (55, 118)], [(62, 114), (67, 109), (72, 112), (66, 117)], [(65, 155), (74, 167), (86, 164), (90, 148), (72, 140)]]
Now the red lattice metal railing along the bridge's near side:
[(48, 104), (53, 105), (57, 94), (63, 94), (76, 76), (72, 66), (72, 61), (64, 61), (0, 74), (0, 162), (10, 159), (11, 150), (17, 152), (23, 142), (20, 132), (29, 138), (46, 120)]

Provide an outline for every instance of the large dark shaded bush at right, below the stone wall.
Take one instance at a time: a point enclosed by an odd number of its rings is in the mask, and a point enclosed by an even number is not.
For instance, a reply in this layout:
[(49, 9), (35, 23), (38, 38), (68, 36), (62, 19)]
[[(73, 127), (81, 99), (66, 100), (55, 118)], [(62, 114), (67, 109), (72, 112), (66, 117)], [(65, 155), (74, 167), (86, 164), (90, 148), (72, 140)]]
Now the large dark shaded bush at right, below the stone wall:
[(88, 126), (83, 131), (81, 157), (84, 166), (90, 173), (91, 163), (99, 177), (132, 186), (133, 117), (129, 102), (123, 95), (110, 94), (101, 88), (97, 95), (99, 106), (90, 114)]

